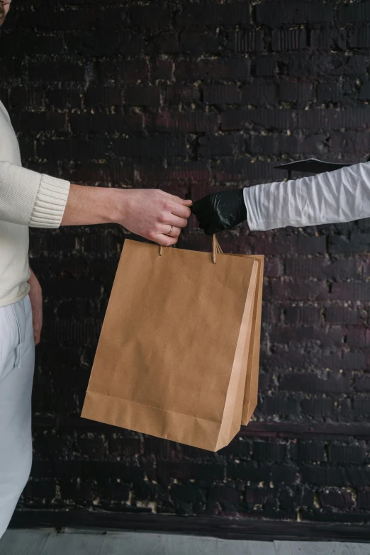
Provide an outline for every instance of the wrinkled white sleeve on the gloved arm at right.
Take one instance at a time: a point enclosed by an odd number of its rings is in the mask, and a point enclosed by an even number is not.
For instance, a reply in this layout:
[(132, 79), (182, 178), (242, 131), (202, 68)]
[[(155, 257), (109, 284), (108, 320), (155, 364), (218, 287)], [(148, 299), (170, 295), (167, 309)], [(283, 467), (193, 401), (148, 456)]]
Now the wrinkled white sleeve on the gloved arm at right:
[(370, 164), (244, 191), (251, 230), (301, 227), (370, 217)]

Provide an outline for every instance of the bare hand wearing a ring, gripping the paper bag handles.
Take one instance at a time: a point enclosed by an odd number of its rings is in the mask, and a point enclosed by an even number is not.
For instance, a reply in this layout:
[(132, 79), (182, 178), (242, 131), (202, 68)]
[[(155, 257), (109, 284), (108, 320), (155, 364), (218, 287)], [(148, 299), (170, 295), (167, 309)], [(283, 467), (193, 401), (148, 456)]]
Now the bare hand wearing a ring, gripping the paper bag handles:
[[(191, 215), (191, 201), (164, 193), (158, 189), (130, 189), (123, 193), (121, 220), (117, 223), (159, 245), (169, 247), (177, 242), (181, 228)], [(167, 235), (169, 231), (171, 235)]]

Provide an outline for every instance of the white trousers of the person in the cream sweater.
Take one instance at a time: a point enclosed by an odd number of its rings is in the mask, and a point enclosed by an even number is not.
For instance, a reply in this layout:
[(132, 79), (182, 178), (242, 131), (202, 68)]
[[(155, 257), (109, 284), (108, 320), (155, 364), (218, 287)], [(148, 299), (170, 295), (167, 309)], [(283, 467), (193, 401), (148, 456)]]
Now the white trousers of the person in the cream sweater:
[(27, 296), (0, 308), (0, 537), (30, 474), (34, 364), (32, 310)]

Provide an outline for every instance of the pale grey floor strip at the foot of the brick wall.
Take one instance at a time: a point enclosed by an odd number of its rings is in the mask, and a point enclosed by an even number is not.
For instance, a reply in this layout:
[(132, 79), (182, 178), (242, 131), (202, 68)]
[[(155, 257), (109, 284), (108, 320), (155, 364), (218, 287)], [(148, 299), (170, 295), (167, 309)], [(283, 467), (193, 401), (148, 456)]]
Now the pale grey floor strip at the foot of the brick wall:
[(8, 530), (0, 555), (370, 555), (370, 544), (243, 542), (135, 532)]

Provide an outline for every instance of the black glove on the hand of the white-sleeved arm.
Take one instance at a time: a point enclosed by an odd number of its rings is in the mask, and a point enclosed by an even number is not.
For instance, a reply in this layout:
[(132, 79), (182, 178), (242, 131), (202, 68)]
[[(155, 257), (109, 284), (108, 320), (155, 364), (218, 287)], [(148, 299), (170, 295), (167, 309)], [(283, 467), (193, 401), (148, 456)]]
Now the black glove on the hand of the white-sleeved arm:
[(198, 218), (199, 227), (206, 235), (230, 230), (247, 219), (242, 189), (205, 196), (191, 206), (191, 211)]

